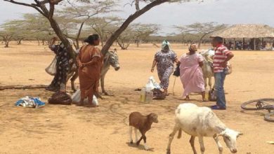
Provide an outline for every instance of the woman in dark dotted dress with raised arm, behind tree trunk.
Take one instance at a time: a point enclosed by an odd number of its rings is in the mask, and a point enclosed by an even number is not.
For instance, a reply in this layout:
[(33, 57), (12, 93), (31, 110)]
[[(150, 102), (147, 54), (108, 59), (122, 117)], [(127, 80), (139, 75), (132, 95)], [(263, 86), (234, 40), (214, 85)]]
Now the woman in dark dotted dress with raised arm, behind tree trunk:
[[(51, 41), (48, 45), (48, 48), (50, 48), (56, 54), (57, 59), (56, 75), (51, 81), (51, 85), (48, 85), (46, 90), (53, 92), (66, 92), (67, 74), (70, 70), (70, 64), (72, 64), (72, 59), (63, 43), (55, 45), (57, 39), (57, 37), (51, 38)], [(67, 41), (70, 42), (70, 45), (73, 45), (73, 41), (70, 38), (67, 38)]]

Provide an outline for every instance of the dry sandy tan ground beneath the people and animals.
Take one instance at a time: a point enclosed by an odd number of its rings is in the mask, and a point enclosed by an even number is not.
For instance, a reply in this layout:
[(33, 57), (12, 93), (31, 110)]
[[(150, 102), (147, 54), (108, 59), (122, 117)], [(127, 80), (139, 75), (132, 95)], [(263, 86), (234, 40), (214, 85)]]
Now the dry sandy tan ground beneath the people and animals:
[[(23, 42), (11, 48), (0, 48), (0, 85), (48, 84), (52, 76), (44, 69), (53, 59), (53, 53), (46, 46)], [(185, 50), (183, 45), (174, 45), (178, 55)], [(204, 47), (206, 48), (206, 47)], [(171, 94), (163, 101), (143, 104), (139, 92), (149, 76), (155, 51), (152, 44), (132, 45), (129, 50), (119, 50), (121, 69), (110, 69), (105, 87), (115, 96), (105, 96), (99, 100), (100, 107), (86, 109), (77, 106), (46, 104), (41, 109), (15, 107), (15, 102), (23, 96), (41, 97), (45, 102), (51, 92), (45, 90), (2, 90), (0, 91), (0, 153), (157, 153), (166, 152), (169, 134), (174, 126), (174, 109), (184, 101), (181, 81), (177, 78)], [(238, 153), (273, 154), (274, 123), (263, 120), (265, 111), (243, 112), (240, 104), (250, 99), (273, 97), (274, 52), (235, 51), (232, 60), (233, 73), (226, 79), (228, 109), (214, 111), (226, 125), (244, 133), (238, 139)], [(174, 77), (171, 77), (169, 92), (172, 93)], [(77, 86), (78, 80), (77, 80)], [(69, 87), (70, 89), (70, 87)], [(209, 106), (214, 102), (200, 102), (199, 95), (191, 96), (199, 106)], [(159, 115), (159, 123), (153, 124), (147, 133), (148, 145), (152, 151), (144, 151), (141, 146), (128, 144), (128, 116), (132, 111)], [(192, 153), (188, 140), (174, 139), (173, 153)], [(211, 138), (204, 139), (206, 153), (218, 153)], [(195, 142), (197, 150), (199, 144)], [(222, 141), (224, 147), (225, 144)], [(199, 152), (200, 153), (200, 152)], [(223, 153), (230, 153), (224, 148)]]

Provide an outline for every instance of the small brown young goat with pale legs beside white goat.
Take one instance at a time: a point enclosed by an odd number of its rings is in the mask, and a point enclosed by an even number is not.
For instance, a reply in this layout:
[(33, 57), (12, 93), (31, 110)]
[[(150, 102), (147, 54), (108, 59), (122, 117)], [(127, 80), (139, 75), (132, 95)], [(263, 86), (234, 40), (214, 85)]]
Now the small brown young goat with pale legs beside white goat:
[[(145, 150), (148, 151), (150, 148), (146, 145), (147, 138), (145, 137), (145, 132), (150, 130), (152, 123), (158, 123), (158, 116), (155, 113), (150, 113), (148, 116), (143, 116), (139, 112), (133, 112), (129, 115), (129, 141), (133, 144), (132, 140), (132, 129), (134, 127), (135, 137), (136, 137), (136, 144), (137, 146), (140, 142), (145, 142)], [(142, 134), (141, 139), (138, 140), (137, 130), (139, 130)]]

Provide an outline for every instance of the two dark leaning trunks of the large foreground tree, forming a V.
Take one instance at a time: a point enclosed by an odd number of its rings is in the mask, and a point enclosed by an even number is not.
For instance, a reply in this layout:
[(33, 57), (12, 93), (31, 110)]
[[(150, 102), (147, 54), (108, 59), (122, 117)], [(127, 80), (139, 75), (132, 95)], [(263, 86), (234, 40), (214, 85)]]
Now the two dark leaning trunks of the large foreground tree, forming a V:
[[(8, 1), (10, 3), (15, 3), (18, 5), (22, 5), (22, 6), (28, 6), (28, 7), (34, 8), (37, 11), (39, 11), (39, 13), (41, 13), (41, 15), (44, 15), (44, 17), (46, 17), (48, 19), (48, 21), (51, 23), (51, 27), (56, 32), (56, 35), (60, 38), (60, 40), (64, 43), (65, 47), (69, 50), (70, 56), (75, 57), (73, 49), (70, 46), (70, 43), (67, 41), (67, 39), (63, 35), (62, 31), (60, 30), (58, 22), (56, 22), (56, 20), (53, 18), (55, 6), (58, 5), (58, 3), (60, 3), (63, 0), (41, 0), (41, 1), (34, 0), (33, 1), (34, 3), (23, 3), (23, 2), (20, 2), (19, 0), (18, 1), (17, 0), (16, 1), (15, 0), (4, 0), (4, 1)], [(92, 2), (91, 0), (79, 0), (79, 1), (82, 1), (84, 3)], [(118, 36), (120, 34), (122, 34), (122, 32), (129, 26), (129, 24), (131, 22), (136, 20), (136, 18), (140, 17), (141, 15), (146, 13), (151, 8), (154, 8), (155, 6), (159, 6), (162, 3), (176, 2), (176, 1), (177, 2), (180, 1), (183, 3), (183, 2), (188, 2), (188, 1), (201, 1), (201, 0), (132, 0), (132, 3), (135, 3), (135, 6), (136, 6), (136, 12), (133, 13), (132, 15), (129, 15), (129, 18), (124, 20), (123, 24), (110, 36), (110, 38), (107, 39), (107, 42), (105, 43), (105, 45), (102, 48), (103, 54), (105, 55), (105, 53), (107, 52), (107, 50), (109, 50), (112, 43), (115, 42), (115, 40), (118, 38)], [(143, 8), (141, 8), (139, 5), (139, 3), (141, 3), (141, 2), (148, 3), (148, 4), (146, 6), (144, 6)], [(48, 7), (46, 7), (46, 5)]]

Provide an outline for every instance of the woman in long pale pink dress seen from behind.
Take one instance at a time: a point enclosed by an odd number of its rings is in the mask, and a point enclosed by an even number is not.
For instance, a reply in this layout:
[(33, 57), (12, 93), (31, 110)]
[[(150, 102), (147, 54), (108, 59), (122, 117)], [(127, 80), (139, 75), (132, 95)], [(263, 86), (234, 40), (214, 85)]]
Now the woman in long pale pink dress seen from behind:
[(180, 77), (183, 83), (183, 97), (190, 100), (190, 92), (201, 92), (202, 100), (205, 101), (204, 78), (202, 74), (202, 66), (204, 58), (196, 53), (197, 45), (192, 44), (189, 52), (180, 59)]

